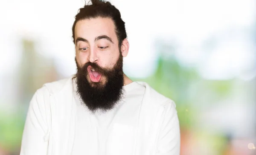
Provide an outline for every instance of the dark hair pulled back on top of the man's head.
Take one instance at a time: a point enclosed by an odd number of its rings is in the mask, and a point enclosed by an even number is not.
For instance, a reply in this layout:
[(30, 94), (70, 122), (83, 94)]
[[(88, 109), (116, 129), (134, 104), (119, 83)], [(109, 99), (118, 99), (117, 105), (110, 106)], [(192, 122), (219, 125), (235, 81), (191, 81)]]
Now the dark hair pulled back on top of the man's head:
[(110, 18), (115, 25), (116, 36), (118, 39), (119, 48), (122, 45), (122, 41), (127, 37), (125, 31), (125, 22), (121, 18), (120, 11), (113, 6), (110, 2), (104, 0), (91, 0), (91, 5), (84, 5), (79, 9), (79, 13), (76, 14), (75, 22), (72, 27), (73, 42), (75, 43), (75, 27), (79, 20), (92, 19), (97, 17)]

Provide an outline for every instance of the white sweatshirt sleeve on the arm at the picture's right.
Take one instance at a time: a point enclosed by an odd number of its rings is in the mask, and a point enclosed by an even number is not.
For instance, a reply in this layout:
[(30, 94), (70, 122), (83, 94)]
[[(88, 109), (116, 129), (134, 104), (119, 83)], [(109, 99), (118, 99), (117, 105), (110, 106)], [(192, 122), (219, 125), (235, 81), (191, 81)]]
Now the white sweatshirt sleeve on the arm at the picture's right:
[(165, 107), (156, 155), (180, 155), (180, 125), (175, 103)]

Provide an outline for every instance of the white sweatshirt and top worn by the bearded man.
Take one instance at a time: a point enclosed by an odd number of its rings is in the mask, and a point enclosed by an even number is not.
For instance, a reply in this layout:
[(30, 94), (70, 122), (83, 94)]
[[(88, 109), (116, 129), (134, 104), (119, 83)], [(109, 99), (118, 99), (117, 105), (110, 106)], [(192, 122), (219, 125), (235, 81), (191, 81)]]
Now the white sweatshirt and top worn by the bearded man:
[(125, 98), (107, 113), (90, 113), (76, 94), (76, 77), (34, 94), (20, 155), (179, 155), (175, 103), (145, 82), (125, 85)]

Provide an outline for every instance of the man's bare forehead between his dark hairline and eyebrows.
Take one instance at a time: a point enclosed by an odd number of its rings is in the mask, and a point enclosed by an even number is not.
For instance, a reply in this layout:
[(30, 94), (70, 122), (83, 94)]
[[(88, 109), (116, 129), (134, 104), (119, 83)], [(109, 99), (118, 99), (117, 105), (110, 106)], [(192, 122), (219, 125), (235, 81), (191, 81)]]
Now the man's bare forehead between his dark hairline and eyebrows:
[(115, 25), (110, 18), (92, 18), (79, 20), (75, 27), (75, 37), (94, 39), (96, 36), (107, 35), (112, 39), (117, 39)]

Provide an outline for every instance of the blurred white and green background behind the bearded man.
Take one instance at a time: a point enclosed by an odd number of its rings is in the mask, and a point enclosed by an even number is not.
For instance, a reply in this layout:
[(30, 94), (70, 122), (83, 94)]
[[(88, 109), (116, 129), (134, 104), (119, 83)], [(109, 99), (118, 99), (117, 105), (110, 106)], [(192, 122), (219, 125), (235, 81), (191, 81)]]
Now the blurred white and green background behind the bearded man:
[[(256, 155), (256, 0), (111, 2), (130, 42), (125, 73), (176, 102), (180, 155)], [(0, 155), (19, 154), (35, 90), (76, 73), (83, 6), (0, 1)]]

